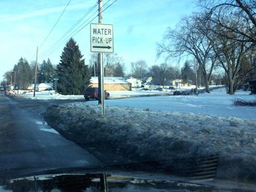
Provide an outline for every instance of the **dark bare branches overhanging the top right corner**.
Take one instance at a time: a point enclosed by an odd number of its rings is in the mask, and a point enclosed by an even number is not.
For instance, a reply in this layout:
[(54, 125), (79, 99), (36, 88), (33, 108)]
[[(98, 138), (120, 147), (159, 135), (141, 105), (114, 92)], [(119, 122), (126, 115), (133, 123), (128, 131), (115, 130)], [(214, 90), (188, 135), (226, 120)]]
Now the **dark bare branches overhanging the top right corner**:
[[(236, 37), (230, 36), (228, 38), (236, 38), (237, 41), (252, 42), (255, 45), (255, 0), (198, 0), (198, 4), (208, 12), (208, 15), (211, 15), (211, 22), (222, 26), (228, 32), (231, 32), (231, 34), (238, 34)], [(244, 28), (230, 27), (230, 20), (227, 20), (227, 17), (231, 18), (233, 25), (236, 26), (242, 20)]]

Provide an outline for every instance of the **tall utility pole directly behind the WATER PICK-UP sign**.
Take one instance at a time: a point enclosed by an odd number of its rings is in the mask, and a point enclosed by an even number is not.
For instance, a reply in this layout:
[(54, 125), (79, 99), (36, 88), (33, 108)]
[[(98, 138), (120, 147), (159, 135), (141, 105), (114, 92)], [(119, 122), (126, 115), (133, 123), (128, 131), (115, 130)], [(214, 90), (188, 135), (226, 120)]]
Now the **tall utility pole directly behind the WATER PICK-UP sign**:
[[(102, 0), (99, 1), (99, 23), (102, 23)], [(102, 104), (102, 53), (98, 53), (98, 104)], [(103, 76), (104, 77), (104, 76)]]

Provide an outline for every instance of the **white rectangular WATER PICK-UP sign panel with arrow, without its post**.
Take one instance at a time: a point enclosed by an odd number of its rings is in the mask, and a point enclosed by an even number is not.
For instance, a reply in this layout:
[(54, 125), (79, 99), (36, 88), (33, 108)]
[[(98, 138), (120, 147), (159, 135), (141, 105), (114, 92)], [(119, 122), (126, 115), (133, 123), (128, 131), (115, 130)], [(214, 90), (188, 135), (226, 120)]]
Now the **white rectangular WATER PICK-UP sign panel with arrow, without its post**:
[(91, 23), (91, 52), (113, 53), (113, 25)]

